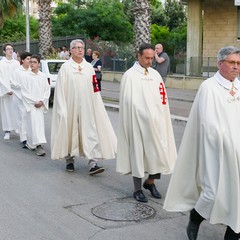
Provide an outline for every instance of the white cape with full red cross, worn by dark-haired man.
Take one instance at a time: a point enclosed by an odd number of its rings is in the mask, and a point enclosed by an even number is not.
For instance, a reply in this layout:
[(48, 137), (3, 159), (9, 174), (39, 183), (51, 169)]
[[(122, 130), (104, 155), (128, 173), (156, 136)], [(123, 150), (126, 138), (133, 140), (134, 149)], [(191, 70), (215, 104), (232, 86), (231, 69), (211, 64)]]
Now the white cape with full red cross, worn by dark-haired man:
[(121, 80), (117, 172), (143, 178), (169, 174), (176, 161), (166, 89), (160, 74), (138, 62)]

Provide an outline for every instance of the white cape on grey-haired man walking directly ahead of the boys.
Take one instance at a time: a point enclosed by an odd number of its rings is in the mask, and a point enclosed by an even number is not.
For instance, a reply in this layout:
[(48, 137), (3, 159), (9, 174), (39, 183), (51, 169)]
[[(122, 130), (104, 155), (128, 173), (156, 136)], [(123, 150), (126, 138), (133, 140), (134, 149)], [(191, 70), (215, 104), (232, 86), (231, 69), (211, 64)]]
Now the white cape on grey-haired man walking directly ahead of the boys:
[[(81, 71), (79, 71), (79, 66)], [(94, 69), (85, 59), (65, 62), (54, 92), (51, 157), (115, 158), (117, 139), (105, 110)]]

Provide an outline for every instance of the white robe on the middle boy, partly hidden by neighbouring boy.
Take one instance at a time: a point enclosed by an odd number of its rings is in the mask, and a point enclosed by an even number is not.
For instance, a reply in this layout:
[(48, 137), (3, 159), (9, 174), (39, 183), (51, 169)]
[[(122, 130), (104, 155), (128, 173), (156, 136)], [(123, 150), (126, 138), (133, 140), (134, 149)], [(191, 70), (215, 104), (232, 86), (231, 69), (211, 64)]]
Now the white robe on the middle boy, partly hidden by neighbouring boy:
[(21, 86), (22, 82), (26, 81), (27, 75), (31, 72), (31, 69), (25, 69), (22, 65), (18, 67), (10, 79), (12, 91), (13, 91), (13, 102), (17, 121), (17, 130), (20, 136), (20, 141), (27, 139), (26, 133), (26, 109), (22, 101)]

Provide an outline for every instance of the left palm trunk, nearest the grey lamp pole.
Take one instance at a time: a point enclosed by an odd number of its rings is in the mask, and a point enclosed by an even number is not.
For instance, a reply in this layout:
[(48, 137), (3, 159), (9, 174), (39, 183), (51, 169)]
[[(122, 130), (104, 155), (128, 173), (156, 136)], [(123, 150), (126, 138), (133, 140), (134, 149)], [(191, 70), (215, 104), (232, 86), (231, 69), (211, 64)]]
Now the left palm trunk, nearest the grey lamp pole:
[(52, 0), (38, 0), (39, 6), (39, 53), (43, 58), (49, 55), (52, 47)]

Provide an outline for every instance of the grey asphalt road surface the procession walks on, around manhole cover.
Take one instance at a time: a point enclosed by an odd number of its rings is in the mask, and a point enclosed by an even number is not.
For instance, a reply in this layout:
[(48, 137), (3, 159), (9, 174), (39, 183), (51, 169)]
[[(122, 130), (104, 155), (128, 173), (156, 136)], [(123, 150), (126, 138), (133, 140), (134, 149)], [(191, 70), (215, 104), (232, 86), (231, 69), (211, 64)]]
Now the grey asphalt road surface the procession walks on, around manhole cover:
[[(64, 161), (50, 159), (51, 113), (45, 118), (45, 157), (22, 149), (17, 135), (3, 140), (0, 133), (0, 240), (187, 240), (188, 213), (162, 209), (170, 176), (156, 182), (163, 199), (146, 192), (147, 206), (155, 211), (149, 219), (112, 221), (94, 215), (105, 204), (120, 201), (120, 210), (135, 205), (132, 177), (116, 173), (114, 159), (100, 161), (106, 168), (101, 175), (89, 176), (84, 158), (77, 158), (74, 173), (66, 172)], [(117, 131), (118, 112), (108, 114)], [(184, 126), (173, 127), (179, 146)], [(113, 208), (109, 214), (117, 217), (120, 212)], [(224, 230), (204, 222), (198, 240), (223, 239)]]

